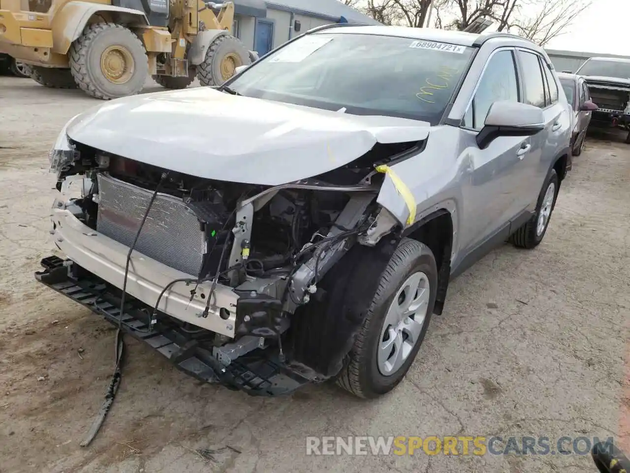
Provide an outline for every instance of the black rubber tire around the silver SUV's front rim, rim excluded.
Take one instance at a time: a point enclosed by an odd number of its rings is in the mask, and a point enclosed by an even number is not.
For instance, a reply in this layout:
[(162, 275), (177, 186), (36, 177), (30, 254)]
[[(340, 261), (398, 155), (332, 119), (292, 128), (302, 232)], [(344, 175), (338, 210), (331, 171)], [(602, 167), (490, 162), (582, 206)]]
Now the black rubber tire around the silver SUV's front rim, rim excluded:
[[(421, 271), (428, 278), (429, 298), (427, 315), (418, 336), (404, 363), (390, 375), (379, 370), (377, 352), (381, 343), (387, 309), (401, 285), (411, 274)], [(348, 354), (347, 363), (336, 382), (340, 387), (364, 399), (373, 399), (386, 394), (398, 385), (413, 363), (423, 342), (435, 305), (437, 295), (437, 265), (430, 248), (423, 243), (404, 238), (392, 255), (381, 275), (379, 287), (370, 303), (364, 324)]]

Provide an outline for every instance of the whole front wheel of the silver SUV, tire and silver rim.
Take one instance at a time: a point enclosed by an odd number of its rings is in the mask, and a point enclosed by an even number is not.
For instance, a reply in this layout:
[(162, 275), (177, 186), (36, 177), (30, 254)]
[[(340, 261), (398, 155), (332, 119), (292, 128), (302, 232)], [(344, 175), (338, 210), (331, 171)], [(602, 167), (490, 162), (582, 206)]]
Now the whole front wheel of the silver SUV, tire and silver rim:
[(432, 251), (404, 238), (381, 275), (338, 385), (366, 399), (396, 387), (420, 350), (436, 294)]

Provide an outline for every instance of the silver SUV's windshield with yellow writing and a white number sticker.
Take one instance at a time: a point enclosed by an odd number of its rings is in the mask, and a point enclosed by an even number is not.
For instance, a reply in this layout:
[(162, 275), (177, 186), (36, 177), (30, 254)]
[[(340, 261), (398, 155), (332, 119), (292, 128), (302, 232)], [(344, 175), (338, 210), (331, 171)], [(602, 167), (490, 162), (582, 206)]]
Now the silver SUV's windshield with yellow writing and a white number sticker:
[(473, 49), (354, 33), (305, 35), (243, 71), (241, 95), (436, 124)]

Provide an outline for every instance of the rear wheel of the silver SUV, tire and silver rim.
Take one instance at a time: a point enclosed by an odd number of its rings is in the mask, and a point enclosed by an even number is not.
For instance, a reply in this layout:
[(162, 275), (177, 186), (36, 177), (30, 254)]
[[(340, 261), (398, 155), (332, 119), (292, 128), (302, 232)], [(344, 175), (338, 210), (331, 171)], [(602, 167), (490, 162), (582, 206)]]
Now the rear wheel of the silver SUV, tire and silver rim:
[(552, 169), (538, 196), (536, 214), (534, 214), (525, 225), (518, 228), (510, 237), (510, 242), (512, 242), (515, 247), (531, 249), (537, 247), (542, 242), (542, 238), (545, 236), (545, 233), (547, 233), (551, 213), (556, 205), (558, 189), (558, 174), (555, 169)]

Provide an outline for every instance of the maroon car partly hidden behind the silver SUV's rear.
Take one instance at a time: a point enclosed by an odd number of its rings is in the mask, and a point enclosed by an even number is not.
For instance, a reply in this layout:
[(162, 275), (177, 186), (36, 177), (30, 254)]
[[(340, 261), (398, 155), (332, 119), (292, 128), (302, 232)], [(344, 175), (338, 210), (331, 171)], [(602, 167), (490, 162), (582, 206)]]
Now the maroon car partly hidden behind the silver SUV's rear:
[(571, 105), (571, 151), (573, 156), (580, 156), (587, 139), (587, 128), (591, 120), (591, 113), (597, 110), (588, 93), (585, 79), (576, 74), (558, 73), (558, 79), (566, 100)]

